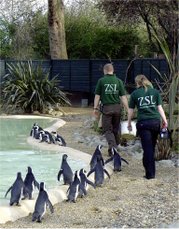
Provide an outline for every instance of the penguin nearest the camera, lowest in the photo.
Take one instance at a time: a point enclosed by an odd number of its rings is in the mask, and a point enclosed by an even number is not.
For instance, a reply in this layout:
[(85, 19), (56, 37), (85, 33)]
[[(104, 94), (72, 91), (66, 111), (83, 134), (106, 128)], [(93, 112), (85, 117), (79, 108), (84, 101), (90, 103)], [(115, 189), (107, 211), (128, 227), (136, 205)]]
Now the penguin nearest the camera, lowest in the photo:
[(50, 208), (51, 213), (54, 212), (53, 205), (49, 200), (47, 191), (45, 190), (45, 183), (41, 182), (39, 194), (35, 203), (35, 209), (32, 214), (32, 221), (37, 221), (38, 223), (41, 223), (42, 217), (44, 216), (47, 207)]

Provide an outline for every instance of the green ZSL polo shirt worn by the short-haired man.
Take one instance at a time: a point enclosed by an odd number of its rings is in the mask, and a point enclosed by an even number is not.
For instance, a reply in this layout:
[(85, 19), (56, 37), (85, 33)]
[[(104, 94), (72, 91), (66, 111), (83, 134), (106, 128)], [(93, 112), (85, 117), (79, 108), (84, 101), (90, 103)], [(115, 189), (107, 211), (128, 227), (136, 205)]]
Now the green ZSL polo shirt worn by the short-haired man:
[(125, 95), (122, 81), (116, 75), (104, 75), (97, 82), (95, 94), (100, 95), (102, 104), (118, 104), (120, 97)]

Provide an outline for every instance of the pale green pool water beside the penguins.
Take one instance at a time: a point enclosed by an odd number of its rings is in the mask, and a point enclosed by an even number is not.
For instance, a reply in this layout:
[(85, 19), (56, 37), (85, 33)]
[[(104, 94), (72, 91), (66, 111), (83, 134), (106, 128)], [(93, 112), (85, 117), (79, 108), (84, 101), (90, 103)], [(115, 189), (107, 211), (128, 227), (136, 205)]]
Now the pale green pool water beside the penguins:
[[(0, 203), (9, 200), (9, 195), (7, 200), (4, 198), (7, 189), (15, 181), (17, 172), (21, 172), (25, 178), (27, 166), (32, 167), (37, 181), (44, 181), (47, 188), (60, 184), (57, 181), (62, 158), (60, 146), (56, 152), (40, 150), (29, 145), (27, 137), (34, 122), (46, 128), (52, 125), (54, 120), (0, 118)], [(70, 156), (68, 162), (73, 171), (86, 166), (82, 160)]]

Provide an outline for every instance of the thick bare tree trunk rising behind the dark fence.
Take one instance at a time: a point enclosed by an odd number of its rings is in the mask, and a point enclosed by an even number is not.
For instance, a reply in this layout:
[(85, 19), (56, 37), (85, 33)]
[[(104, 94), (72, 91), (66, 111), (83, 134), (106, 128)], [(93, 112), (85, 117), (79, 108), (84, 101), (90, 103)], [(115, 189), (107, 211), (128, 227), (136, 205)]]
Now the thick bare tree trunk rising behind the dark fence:
[(48, 27), (51, 59), (68, 59), (63, 0), (48, 0)]

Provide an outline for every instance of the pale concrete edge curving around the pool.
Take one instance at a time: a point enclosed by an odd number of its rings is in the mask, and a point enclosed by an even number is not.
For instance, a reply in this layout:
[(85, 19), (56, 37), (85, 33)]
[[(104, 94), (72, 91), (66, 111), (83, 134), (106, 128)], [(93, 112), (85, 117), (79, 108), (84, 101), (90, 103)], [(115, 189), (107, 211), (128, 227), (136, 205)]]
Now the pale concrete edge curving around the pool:
[[(23, 118), (23, 116), (19, 117), (15, 117), (15, 116), (8, 116), (8, 118)], [(25, 116), (27, 118), (27, 116)], [(43, 118), (42, 116), (31, 116), (30, 118)], [(46, 118), (51, 118), (51, 117), (46, 117)], [(54, 119), (54, 118), (51, 118)], [(57, 120), (57, 122), (55, 122), (52, 126), (45, 128), (48, 131), (56, 131), (58, 128), (62, 127), (63, 125), (65, 125), (65, 121), (62, 119), (58, 119), (55, 118)], [(39, 141), (33, 139), (32, 137), (28, 137), (27, 138), (27, 142), (33, 146), (37, 146), (37, 148), (40, 149), (44, 149), (44, 150), (52, 150), (52, 151), (58, 151), (60, 149), (61, 153), (66, 153), (68, 155), (70, 155), (73, 158), (80, 158), (81, 160), (83, 160), (85, 163), (89, 164), (89, 161), (91, 159), (91, 155), (87, 154), (85, 152), (76, 150), (76, 149), (72, 149), (70, 147), (63, 147), (63, 146), (58, 146), (58, 145), (52, 145), (52, 144), (47, 144), (47, 143), (39, 143)], [(87, 171), (89, 170), (89, 167), (87, 166), (85, 168)], [(112, 167), (110, 165), (106, 165), (106, 169), (108, 170), (109, 174), (112, 174)], [(105, 176), (106, 177), (106, 176)], [(90, 180), (94, 181), (94, 176), (90, 177)], [(48, 194), (49, 194), (49, 199), (51, 200), (52, 204), (55, 205), (57, 203), (62, 202), (63, 200), (66, 199), (66, 191), (68, 189), (67, 185), (59, 185), (59, 187), (57, 188), (53, 188), (53, 189), (48, 189)], [(34, 206), (35, 206), (35, 202), (36, 202), (36, 197), (38, 194), (34, 195), (34, 199), (33, 200), (23, 200), (20, 202), (21, 206), (17, 207), (17, 206), (9, 206), (9, 205), (3, 205), (0, 206), (0, 212), (1, 212), (1, 216), (0, 216), (0, 224), (5, 224), (8, 221), (16, 221), (19, 218), (23, 218), (28, 216), (30, 213), (32, 213), (34, 211)]]

